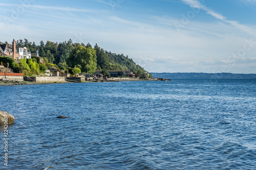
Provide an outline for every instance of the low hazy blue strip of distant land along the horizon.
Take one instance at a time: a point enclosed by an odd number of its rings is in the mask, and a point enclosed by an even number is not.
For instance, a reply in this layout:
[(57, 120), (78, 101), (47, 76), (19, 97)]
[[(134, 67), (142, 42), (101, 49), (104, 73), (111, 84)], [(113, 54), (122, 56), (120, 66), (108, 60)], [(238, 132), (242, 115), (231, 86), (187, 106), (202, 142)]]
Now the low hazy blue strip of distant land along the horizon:
[(203, 72), (151, 72), (154, 78), (164, 79), (256, 79), (256, 74), (203, 73)]

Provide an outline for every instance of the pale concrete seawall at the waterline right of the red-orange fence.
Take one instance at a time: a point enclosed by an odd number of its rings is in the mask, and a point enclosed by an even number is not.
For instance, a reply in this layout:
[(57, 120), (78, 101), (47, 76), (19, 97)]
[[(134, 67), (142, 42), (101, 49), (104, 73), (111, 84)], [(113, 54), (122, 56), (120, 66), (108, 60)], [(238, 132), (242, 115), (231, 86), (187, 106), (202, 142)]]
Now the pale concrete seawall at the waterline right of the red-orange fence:
[[(32, 80), (31, 80), (32, 79)], [(25, 81), (35, 81), (41, 83), (64, 83), (65, 77), (24, 77)]]

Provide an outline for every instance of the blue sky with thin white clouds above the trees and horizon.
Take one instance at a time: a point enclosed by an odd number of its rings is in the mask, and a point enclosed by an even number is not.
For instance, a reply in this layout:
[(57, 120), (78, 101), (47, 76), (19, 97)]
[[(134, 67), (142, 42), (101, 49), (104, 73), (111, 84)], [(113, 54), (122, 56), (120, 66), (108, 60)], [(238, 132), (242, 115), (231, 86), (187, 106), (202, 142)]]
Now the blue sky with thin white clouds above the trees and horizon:
[(256, 74), (256, 0), (1, 0), (0, 41), (96, 43), (150, 72)]

